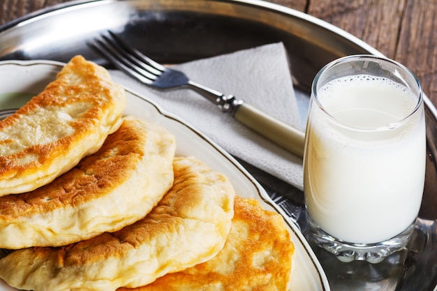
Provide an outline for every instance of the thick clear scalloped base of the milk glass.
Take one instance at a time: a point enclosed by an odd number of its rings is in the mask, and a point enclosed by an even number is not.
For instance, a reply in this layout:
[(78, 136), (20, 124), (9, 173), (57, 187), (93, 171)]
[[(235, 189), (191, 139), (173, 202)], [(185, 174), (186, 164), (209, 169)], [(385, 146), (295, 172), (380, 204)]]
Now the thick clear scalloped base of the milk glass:
[(367, 261), (372, 264), (382, 262), (387, 256), (401, 251), (407, 246), (415, 228), (414, 221), (408, 225), (406, 230), (387, 241), (376, 244), (353, 244), (330, 236), (321, 230), (308, 214), (306, 218), (308, 230), (314, 243), (320, 248), (325, 248), (325, 250), (333, 253), (341, 262), (352, 262), (354, 260)]

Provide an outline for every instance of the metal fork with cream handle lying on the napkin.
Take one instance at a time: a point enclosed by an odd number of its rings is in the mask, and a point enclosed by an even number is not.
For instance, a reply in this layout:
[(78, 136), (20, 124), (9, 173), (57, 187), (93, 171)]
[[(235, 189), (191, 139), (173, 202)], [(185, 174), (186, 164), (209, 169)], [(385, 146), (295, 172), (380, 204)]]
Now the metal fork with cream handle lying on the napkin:
[(193, 82), (179, 70), (167, 68), (124, 43), (115, 33), (108, 31), (90, 44), (94, 50), (109, 59), (112, 64), (140, 82), (158, 89), (192, 89), (216, 104), (222, 112), (228, 112), (237, 121), (255, 130), (260, 135), (278, 144), (293, 154), (302, 157), (304, 133), (265, 112), (245, 103), (235, 96)]

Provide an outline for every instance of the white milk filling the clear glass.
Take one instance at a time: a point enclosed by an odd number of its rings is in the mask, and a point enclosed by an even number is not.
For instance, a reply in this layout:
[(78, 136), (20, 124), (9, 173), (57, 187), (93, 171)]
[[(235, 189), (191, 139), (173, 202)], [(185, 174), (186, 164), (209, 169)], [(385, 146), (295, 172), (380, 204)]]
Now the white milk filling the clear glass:
[(415, 221), (424, 187), (424, 114), (406, 119), (417, 97), (384, 77), (354, 75), (323, 85), (318, 102), (325, 111), (313, 104), (306, 129), (309, 215), (355, 244), (396, 236)]

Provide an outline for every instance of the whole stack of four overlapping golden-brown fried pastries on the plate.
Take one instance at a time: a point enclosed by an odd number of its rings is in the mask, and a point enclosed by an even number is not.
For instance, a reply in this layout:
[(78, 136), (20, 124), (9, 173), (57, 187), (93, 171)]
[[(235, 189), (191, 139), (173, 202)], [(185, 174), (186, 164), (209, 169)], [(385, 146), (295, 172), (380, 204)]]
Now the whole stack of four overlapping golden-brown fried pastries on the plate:
[(0, 278), (20, 290), (286, 290), (279, 214), (175, 157), (162, 126), (124, 117), (124, 89), (77, 56), (0, 121)]

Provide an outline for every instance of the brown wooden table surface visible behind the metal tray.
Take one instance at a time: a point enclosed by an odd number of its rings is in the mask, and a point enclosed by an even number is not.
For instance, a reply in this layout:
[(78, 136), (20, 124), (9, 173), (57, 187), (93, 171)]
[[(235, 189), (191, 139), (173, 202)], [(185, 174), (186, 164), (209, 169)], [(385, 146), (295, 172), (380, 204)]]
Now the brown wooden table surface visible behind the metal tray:
[[(0, 0), (0, 24), (68, 0)], [(269, 0), (361, 38), (417, 75), (437, 105), (437, 1)]]

